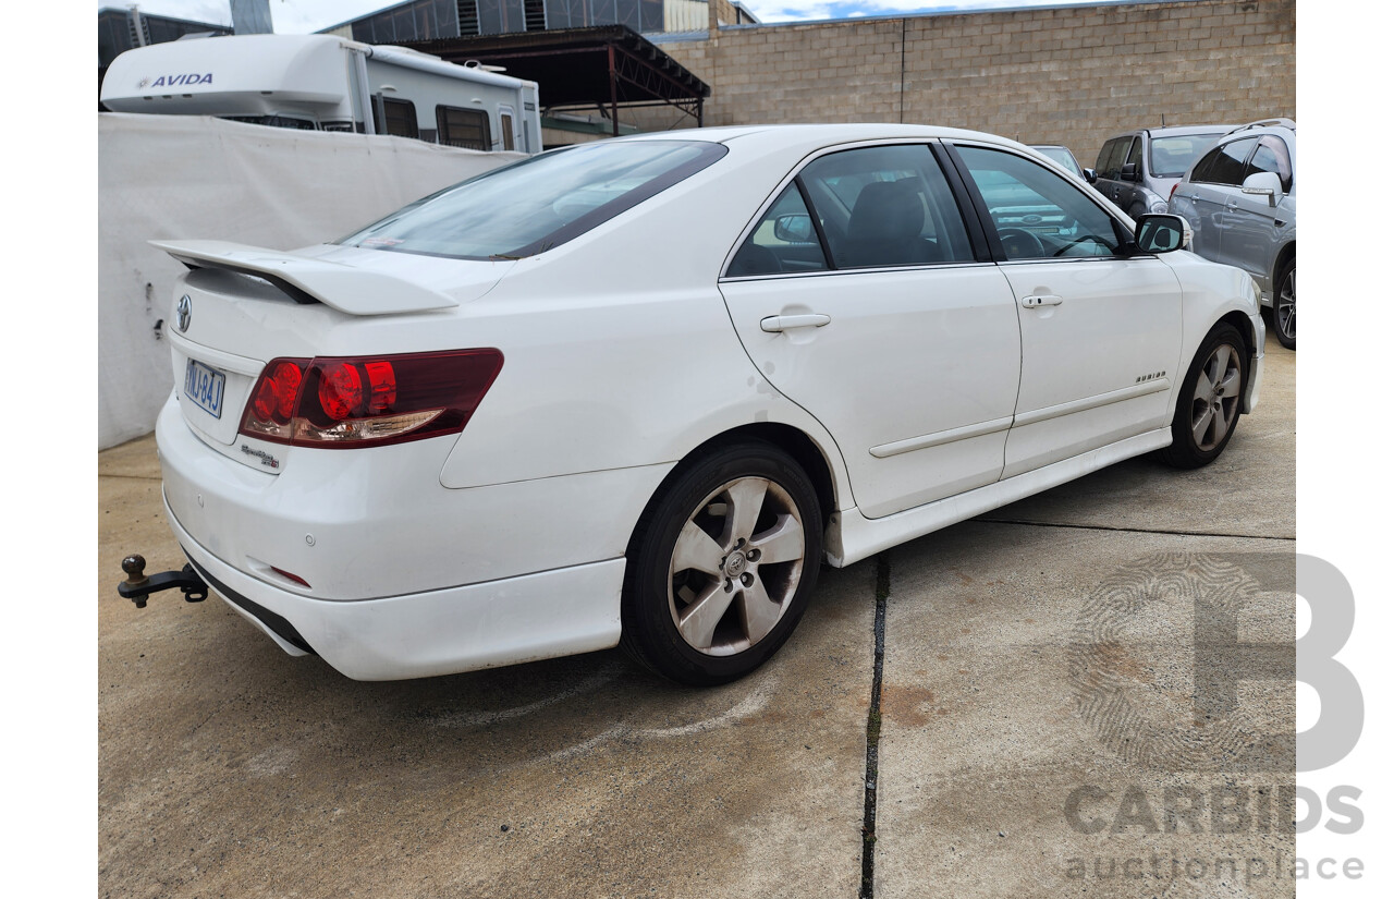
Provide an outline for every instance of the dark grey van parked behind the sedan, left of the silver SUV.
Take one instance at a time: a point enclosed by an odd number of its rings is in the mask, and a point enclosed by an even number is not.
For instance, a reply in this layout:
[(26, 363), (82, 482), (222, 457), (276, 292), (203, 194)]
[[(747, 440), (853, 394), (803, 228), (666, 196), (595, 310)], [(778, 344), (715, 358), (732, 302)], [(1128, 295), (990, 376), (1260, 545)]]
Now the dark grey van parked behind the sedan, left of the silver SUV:
[(1167, 212), (1167, 197), (1190, 163), (1234, 125), (1140, 128), (1104, 142), (1094, 188), (1132, 217)]

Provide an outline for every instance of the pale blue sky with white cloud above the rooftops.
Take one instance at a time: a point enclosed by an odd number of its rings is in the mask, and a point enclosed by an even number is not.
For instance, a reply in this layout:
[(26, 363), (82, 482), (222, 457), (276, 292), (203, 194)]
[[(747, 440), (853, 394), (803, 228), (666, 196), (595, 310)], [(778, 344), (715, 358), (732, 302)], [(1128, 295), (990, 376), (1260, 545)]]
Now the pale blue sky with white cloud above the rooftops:
[[(898, 15), (934, 10), (990, 10), (994, 7), (1069, 6), (1079, 0), (740, 0), (763, 22), (795, 22), (861, 15)], [(125, 8), (123, 0), (98, 0), (98, 8)], [(308, 33), (396, 6), (393, 0), (270, 0), (272, 25), (279, 33)], [(197, 22), (231, 24), (227, 0), (145, 0), (144, 13)]]

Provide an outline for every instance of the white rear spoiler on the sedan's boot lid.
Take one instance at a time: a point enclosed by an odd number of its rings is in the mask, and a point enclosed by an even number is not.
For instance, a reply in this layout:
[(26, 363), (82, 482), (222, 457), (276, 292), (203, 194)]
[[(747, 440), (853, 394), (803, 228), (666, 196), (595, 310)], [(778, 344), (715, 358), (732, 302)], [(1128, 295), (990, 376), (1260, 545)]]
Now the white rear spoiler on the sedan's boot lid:
[(259, 277), (296, 302), (323, 302), (348, 315), (425, 312), (460, 305), (439, 291), (383, 272), (276, 249), (222, 240), (152, 240), (151, 245), (191, 269), (222, 269)]

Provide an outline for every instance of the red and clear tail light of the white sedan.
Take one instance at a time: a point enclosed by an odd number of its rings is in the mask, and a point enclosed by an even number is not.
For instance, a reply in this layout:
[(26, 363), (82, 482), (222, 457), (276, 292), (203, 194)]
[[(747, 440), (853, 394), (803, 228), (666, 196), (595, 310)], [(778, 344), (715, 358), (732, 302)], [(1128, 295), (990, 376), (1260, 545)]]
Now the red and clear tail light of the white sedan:
[(459, 433), (500, 368), (498, 350), (272, 360), (238, 433), (343, 449)]

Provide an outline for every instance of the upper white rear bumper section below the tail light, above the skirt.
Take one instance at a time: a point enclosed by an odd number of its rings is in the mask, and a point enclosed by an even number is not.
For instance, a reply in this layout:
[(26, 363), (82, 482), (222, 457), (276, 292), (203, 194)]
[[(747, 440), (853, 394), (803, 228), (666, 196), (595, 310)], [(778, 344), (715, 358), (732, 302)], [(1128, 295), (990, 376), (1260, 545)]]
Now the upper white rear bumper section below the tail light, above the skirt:
[(156, 442), (164, 502), (195, 544), (262, 584), (339, 602), (619, 559), (671, 470), (453, 489), (441, 485), (452, 438), (436, 438), (364, 450), (273, 447), (282, 466), (272, 474), (204, 443), (174, 400)]

